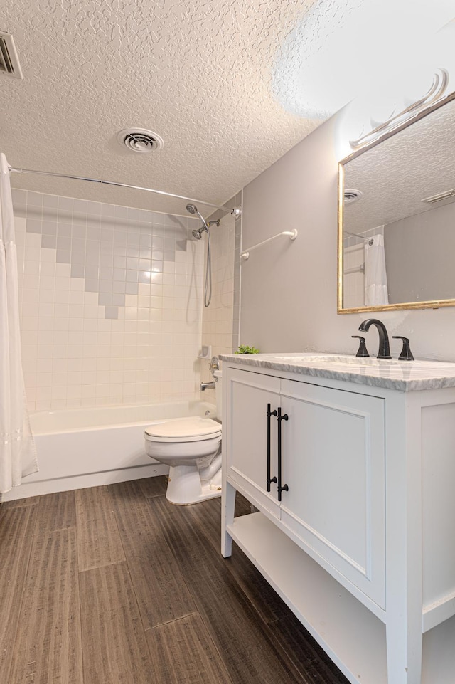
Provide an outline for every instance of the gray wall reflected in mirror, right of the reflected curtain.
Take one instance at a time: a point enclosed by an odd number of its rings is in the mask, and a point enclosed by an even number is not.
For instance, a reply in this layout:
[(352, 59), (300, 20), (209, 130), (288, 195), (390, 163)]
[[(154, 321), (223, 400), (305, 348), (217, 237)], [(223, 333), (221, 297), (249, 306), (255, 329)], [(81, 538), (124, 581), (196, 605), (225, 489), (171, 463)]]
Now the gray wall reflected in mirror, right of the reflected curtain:
[(455, 297), (455, 204), (384, 228), (389, 302)]

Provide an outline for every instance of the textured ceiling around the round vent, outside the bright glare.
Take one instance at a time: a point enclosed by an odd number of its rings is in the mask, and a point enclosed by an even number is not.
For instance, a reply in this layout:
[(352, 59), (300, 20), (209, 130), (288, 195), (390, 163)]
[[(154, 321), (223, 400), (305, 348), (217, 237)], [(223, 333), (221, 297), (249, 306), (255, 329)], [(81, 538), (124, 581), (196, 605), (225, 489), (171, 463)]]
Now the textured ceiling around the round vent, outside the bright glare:
[[(0, 30), (14, 34), (24, 80), (0, 77), (0, 151), (13, 167), (223, 204), (319, 124), (286, 112), (272, 94), (279, 46), (315, 2), (3, 4)], [(336, 2), (326, 3), (326, 10), (331, 7), (336, 11)], [(129, 126), (157, 132), (164, 148), (152, 154), (123, 150), (115, 138)], [(185, 211), (181, 200), (139, 191), (20, 174), (12, 174), (12, 183)]]

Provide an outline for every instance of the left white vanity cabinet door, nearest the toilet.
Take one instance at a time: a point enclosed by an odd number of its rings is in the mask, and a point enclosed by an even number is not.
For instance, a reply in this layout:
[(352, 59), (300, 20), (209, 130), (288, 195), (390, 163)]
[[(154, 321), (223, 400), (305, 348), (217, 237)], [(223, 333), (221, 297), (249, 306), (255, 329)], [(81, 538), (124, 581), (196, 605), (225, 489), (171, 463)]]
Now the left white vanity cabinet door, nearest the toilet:
[[(279, 518), (277, 485), (267, 492), (267, 404), (279, 406), (279, 378), (228, 369), (223, 421), (226, 475), (257, 503)], [(270, 419), (271, 477), (277, 476), (277, 419)]]

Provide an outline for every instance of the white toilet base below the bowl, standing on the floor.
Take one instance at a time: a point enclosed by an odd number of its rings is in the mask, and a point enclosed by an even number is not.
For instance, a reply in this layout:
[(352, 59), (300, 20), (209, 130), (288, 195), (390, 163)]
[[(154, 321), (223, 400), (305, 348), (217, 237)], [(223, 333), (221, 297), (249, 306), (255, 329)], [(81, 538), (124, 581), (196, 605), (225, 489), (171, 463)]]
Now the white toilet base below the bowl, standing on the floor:
[(174, 465), (169, 468), (166, 499), (177, 506), (188, 506), (221, 496), (220, 478), (200, 480), (197, 465)]

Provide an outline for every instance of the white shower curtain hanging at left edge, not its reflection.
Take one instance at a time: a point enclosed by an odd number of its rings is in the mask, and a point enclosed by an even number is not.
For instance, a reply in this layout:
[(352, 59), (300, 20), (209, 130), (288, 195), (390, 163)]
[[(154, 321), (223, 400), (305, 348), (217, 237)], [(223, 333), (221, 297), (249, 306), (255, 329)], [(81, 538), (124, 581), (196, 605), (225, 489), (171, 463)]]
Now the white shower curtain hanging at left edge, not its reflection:
[(8, 162), (0, 154), (0, 493), (36, 473), (21, 363), (13, 202)]

